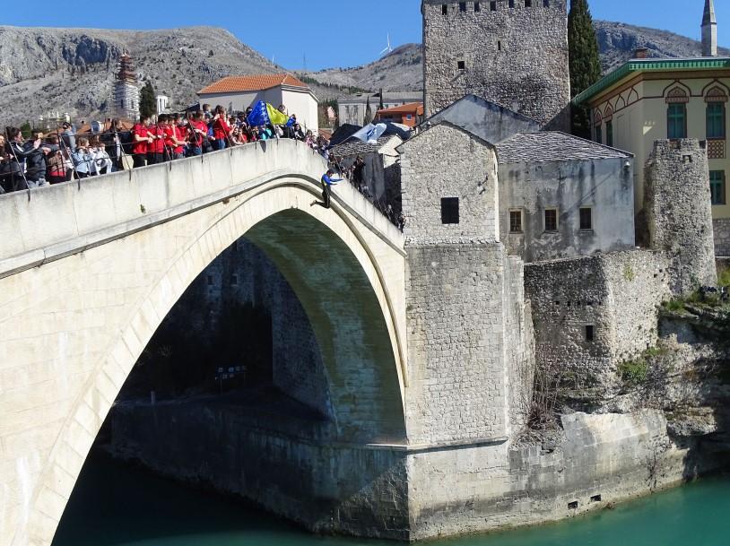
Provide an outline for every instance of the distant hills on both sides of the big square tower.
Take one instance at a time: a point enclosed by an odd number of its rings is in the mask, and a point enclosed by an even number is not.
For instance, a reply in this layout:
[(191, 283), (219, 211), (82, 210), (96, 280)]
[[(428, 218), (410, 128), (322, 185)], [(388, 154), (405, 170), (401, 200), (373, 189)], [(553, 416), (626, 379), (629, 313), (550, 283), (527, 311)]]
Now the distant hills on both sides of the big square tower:
[[(630, 59), (637, 48), (647, 48), (649, 56), (700, 56), (699, 41), (668, 32), (621, 22), (595, 21), (595, 33), (604, 72), (610, 72)], [(720, 55), (730, 49), (720, 48)], [(322, 83), (361, 87), (377, 91), (417, 91), (423, 86), (420, 44), (406, 44), (369, 65), (333, 68), (308, 74)]]

